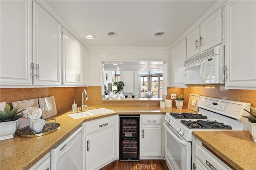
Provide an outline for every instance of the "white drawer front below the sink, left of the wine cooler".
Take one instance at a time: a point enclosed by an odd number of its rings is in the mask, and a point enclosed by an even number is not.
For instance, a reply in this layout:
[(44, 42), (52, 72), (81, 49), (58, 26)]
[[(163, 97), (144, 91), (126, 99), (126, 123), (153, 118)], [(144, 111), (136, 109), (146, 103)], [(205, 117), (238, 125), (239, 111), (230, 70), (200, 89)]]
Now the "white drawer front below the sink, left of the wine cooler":
[(86, 134), (92, 133), (95, 131), (100, 131), (103, 129), (107, 129), (109, 127), (112, 127), (116, 125), (116, 118), (102, 118), (102, 119), (97, 119), (90, 121), (89, 123), (85, 123), (85, 132)]

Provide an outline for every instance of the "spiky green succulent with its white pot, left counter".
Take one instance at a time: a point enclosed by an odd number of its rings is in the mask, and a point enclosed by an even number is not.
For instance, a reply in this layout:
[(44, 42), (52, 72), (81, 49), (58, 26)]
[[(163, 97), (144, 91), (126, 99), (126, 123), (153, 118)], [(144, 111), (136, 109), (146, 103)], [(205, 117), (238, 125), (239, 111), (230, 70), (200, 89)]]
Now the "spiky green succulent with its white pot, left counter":
[(14, 137), (14, 133), (18, 125), (18, 119), (24, 117), (23, 114), (18, 115), (18, 113), (24, 111), (25, 109), (20, 111), (18, 111), (18, 109), (20, 109), (20, 106), (15, 107), (11, 110), (11, 107), (6, 104), (4, 107), (4, 111), (0, 111), (0, 140), (10, 139)]

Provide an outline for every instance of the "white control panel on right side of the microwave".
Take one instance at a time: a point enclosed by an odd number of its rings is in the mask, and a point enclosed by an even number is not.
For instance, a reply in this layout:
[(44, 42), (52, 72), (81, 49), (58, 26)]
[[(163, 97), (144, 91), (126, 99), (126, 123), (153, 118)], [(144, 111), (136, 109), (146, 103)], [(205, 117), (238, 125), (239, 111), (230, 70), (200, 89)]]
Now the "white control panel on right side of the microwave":
[(206, 59), (206, 82), (215, 82), (215, 57)]

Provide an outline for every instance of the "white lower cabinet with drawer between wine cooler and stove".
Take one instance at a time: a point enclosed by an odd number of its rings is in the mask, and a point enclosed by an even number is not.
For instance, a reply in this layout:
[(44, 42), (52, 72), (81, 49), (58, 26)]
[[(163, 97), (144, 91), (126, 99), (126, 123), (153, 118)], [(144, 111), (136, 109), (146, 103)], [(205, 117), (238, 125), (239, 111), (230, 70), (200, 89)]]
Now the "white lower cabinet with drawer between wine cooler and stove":
[(140, 115), (140, 159), (164, 156), (164, 115)]

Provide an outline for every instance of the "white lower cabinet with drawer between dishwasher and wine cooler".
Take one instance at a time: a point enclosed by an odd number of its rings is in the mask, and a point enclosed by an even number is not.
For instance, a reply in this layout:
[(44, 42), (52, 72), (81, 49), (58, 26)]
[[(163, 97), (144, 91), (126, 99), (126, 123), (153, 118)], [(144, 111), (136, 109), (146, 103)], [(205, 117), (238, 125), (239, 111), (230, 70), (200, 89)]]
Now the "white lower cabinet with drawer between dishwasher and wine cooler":
[(84, 123), (86, 170), (100, 169), (116, 160), (118, 115)]

